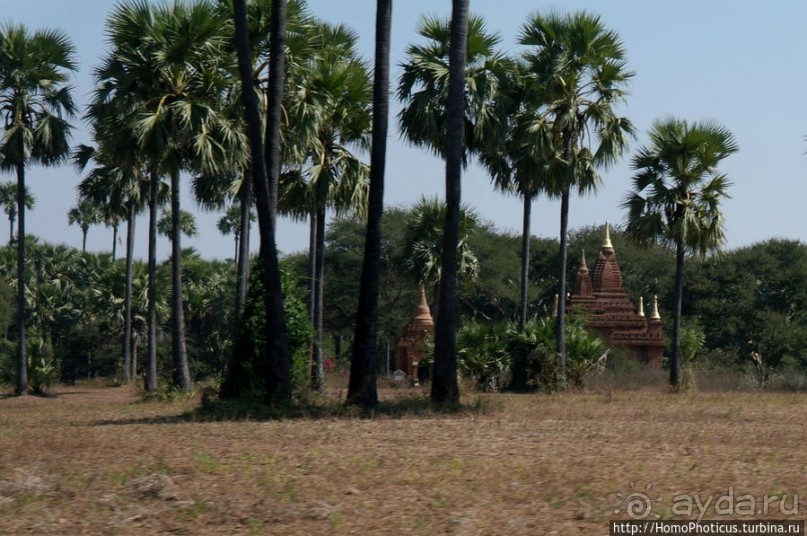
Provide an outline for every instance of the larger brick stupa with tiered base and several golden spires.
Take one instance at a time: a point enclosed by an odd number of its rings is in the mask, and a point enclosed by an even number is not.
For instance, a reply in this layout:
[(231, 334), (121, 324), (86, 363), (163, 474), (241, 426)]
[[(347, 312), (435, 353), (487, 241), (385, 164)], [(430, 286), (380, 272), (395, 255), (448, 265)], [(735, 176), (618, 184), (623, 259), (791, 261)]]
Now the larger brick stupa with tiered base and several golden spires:
[(653, 298), (653, 312), (649, 318), (644, 314), (643, 298), (639, 298), (638, 311), (634, 308), (622, 288), (622, 271), (616, 261), (607, 223), (605, 242), (593, 273), (589, 272), (583, 252), (567, 312), (572, 309), (583, 309), (588, 314), (586, 327), (597, 332), (609, 345), (626, 348), (634, 359), (661, 367), (664, 333), (658, 299)]

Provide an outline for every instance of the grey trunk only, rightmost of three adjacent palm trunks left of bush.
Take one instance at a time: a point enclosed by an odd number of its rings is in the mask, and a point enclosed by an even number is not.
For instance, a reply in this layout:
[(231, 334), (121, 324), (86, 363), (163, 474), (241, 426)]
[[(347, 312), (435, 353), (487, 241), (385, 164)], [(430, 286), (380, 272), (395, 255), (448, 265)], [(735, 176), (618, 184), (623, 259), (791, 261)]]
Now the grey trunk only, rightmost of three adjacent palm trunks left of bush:
[(185, 347), (185, 312), (182, 303), (182, 221), (179, 202), (179, 170), (171, 170), (171, 355), (174, 385), (191, 390), (188, 353)]

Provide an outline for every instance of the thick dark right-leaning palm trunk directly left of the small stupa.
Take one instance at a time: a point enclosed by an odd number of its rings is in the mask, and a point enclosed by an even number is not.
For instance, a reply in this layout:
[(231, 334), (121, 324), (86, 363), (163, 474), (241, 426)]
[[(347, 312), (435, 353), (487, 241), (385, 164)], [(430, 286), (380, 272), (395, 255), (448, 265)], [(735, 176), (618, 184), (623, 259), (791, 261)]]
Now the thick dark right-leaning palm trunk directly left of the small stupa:
[(389, 129), (389, 55), (392, 0), (378, 0), (373, 79), (373, 146), (370, 154), (370, 192), (359, 286), (359, 307), (350, 357), (347, 400), (365, 408), (378, 404), (378, 289), (381, 272), (381, 224), (384, 214), (384, 170)]

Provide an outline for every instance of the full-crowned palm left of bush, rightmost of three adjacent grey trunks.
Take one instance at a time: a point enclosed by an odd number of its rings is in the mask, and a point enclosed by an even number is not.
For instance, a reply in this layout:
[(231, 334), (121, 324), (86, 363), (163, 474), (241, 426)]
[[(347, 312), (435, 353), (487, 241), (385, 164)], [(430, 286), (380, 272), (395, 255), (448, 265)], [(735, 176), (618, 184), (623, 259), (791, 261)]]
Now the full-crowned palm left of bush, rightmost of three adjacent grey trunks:
[[(240, 124), (220, 113), (232, 70), (227, 20), (209, 2), (119, 5), (108, 23), (117, 92), (132, 93), (128, 125), (152, 173), (170, 177), (174, 382), (190, 390), (182, 298), (180, 173), (216, 174), (244, 156)], [(153, 189), (153, 191), (156, 190)]]

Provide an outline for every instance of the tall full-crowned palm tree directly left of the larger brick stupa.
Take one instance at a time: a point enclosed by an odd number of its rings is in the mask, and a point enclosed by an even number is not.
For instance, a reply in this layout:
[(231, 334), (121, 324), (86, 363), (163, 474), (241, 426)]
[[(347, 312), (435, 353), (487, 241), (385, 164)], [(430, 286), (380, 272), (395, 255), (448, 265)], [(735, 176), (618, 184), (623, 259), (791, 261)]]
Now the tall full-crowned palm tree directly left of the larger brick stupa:
[(625, 68), (625, 48), (616, 32), (586, 12), (534, 14), (523, 25), (519, 43), (531, 47), (524, 59), (545, 102), (535, 126), (547, 123), (557, 160), (552, 188), (561, 199), (555, 336), (565, 385), (569, 197), (572, 190), (594, 190), (600, 182), (597, 168), (613, 164), (634, 135), (630, 121), (614, 109), (624, 100), (633, 73)]

